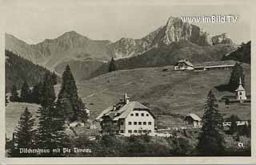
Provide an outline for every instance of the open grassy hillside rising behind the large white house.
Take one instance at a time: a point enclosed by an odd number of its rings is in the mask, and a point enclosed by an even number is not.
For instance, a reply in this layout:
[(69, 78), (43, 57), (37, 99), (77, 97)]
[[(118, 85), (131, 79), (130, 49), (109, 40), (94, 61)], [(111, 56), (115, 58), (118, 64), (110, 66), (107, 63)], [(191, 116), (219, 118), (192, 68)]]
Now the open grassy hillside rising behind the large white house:
[[(246, 73), (246, 91), (247, 95), (250, 95), (250, 65), (243, 66)], [(230, 70), (162, 72), (165, 68), (107, 73), (89, 81), (82, 81), (78, 84), (78, 92), (91, 109), (92, 119), (104, 108), (116, 103), (127, 92), (130, 100), (138, 100), (152, 110), (157, 116), (159, 127), (169, 127), (182, 123), (182, 119), (177, 116), (184, 116), (188, 112), (202, 116), (207, 92), (210, 88), (228, 83), (230, 78)], [(216, 88), (214, 93), (218, 99), (222, 96), (234, 95), (230, 92), (218, 92)], [(227, 116), (237, 114), (242, 119), (250, 119), (250, 104), (233, 104), (229, 109), (226, 109), (223, 103), (219, 104), (220, 110)]]

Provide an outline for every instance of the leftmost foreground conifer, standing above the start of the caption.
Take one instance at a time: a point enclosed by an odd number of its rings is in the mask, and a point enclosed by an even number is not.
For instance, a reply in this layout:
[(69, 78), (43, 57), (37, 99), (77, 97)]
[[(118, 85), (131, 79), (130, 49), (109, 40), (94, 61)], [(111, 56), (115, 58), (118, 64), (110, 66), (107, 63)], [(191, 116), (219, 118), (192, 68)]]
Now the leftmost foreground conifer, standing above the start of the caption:
[(20, 120), (18, 121), (18, 127), (14, 131), (15, 143), (17, 144), (12, 151), (13, 155), (20, 156), (32, 156), (34, 154), (19, 154), (19, 148), (34, 148), (34, 119), (28, 108), (22, 112)]

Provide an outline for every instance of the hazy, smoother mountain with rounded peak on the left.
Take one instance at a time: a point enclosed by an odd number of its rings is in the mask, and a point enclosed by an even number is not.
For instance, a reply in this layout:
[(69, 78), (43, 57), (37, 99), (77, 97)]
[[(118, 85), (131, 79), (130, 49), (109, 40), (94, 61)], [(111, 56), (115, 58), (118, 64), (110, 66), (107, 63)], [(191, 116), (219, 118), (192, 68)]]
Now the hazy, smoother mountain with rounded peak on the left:
[(94, 41), (71, 31), (37, 45), (28, 45), (6, 33), (6, 49), (48, 69), (54, 69), (55, 65), (63, 61), (109, 60), (111, 56), (106, 47), (109, 43), (110, 41)]

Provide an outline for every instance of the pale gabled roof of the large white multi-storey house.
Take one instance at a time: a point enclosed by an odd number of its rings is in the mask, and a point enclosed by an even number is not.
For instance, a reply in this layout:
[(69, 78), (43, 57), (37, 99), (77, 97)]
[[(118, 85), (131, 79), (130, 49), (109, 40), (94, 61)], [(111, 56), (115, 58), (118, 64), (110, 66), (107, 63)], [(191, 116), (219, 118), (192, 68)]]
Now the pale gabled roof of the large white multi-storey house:
[[(110, 106), (109, 108), (106, 108), (104, 111), (101, 112), (101, 114), (96, 118), (96, 120), (102, 120), (102, 116), (110, 116), (115, 114), (113, 120), (119, 120), (126, 118), (130, 112), (133, 110), (146, 110), (148, 112), (149, 108), (147, 108), (145, 105), (139, 103), (138, 101), (130, 101), (128, 104), (123, 104), (121, 108), (114, 111), (113, 106)], [(150, 114), (154, 117), (154, 115), (150, 112)], [(155, 117), (154, 117), (155, 118)]]

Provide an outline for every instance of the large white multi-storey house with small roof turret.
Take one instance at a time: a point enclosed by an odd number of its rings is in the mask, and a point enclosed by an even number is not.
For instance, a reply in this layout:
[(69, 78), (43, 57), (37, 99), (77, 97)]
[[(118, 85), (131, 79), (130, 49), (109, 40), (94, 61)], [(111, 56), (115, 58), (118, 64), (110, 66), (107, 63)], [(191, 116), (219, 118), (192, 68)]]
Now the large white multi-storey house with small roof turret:
[(106, 108), (96, 118), (102, 127), (102, 134), (123, 136), (154, 133), (155, 116), (150, 109), (138, 101), (130, 101), (125, 94), (118, 104)]

